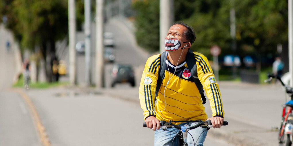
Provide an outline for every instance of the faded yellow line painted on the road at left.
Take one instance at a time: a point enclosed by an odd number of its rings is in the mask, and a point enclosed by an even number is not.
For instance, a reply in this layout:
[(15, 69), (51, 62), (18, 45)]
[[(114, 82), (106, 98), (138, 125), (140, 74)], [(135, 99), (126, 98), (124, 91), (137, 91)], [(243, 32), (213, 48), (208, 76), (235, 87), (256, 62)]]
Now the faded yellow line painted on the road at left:
[(35, 126), (37, 128), (37, 131), (39, 133), (42, 145), (43, 146), (51, 146), (50, 140), (49, 140), (47, 133), (46, 133), (46, 129), (41, 123), (40, 117), (38, 115), (37, 110), (35, 109), (35, 106), (33, 105), (33, 102), (30, 100), (28, 95), (25, 94), (21, 89), (18, 89), (17, 91), (22, 96), (22, 98), (25, 100), (25, 102), (28, 104), (28, 107), (30, 108), (30, 112), (32, 113), (33, 121), (34, 121)]

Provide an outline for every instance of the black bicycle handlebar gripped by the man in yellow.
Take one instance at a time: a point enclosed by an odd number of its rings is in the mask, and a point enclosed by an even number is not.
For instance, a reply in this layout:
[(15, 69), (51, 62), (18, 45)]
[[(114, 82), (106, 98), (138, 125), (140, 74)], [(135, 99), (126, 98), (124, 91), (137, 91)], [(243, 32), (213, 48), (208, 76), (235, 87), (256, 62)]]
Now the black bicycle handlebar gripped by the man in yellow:
[[(206, 121), (202, 121), (202, 120), (197, 120), (197, 121), (169, 121), (169, 122), (160, 121), (160, 125), (161, 126), (167, 126), (166, 128), (172, 128), (171, 126), (174, 126), (174, 128), (181, 129), (181, 126), (175, 125), (172, 122), (199, 122), (195, 126), (191, 126), (190, 127), (190, 130), (191, 129), (195, 129), (195, 128), (199, 127), (199, 126), (212, 125), (211, 120), (206, 120)], [(167, 123), (167, 125), (166, 125), (166, 123)], [(226, 125), (228, 125), (228, 122), (227, 121), (224, 121), (222, 126), (226, 126)], [(168, 126), (170, 126), (170, 127), (168, 127)], [(147, 123), (143, 123), (143, 127), (147, 127)]]

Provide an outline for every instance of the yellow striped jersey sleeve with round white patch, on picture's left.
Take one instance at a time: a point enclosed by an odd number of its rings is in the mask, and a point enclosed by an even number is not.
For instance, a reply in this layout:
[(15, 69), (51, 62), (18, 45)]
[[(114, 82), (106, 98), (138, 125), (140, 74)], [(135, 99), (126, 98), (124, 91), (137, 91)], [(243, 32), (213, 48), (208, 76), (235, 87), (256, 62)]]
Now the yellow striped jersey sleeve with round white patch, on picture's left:
[(151, 56), (147, 60), (142, 73), (142, 79), (139, 84), (139, 100), (144, 111), (144, 120), (149, 116), (156, 116), (154, 104), (160, 65), (160, 55)]

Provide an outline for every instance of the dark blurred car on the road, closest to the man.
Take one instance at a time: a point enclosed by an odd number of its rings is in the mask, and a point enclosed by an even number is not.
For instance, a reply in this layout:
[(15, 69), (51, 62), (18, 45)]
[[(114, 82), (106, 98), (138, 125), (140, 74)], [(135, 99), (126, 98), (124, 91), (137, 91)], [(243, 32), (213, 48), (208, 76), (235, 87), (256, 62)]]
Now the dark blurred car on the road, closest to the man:
[(116, 64), (113, 66), (112, 73), (113, 81), (111, 87), (117, 83), (129, 82), (132, 87), (135, 86), (134, 71), (131, 65)]

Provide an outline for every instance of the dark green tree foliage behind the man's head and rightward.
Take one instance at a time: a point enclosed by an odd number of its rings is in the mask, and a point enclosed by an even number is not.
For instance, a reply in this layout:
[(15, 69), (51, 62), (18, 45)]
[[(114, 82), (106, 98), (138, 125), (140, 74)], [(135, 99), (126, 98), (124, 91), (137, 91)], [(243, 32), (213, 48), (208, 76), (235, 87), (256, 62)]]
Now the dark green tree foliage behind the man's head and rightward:
[[(149, 51), (159, 50), (159, 2), (134, 2), (137, 42)], [(191, 49), (209, 57), (209, 48), (218, 45), (222, 54), (232, 52), (230, 9), (235, 9), (237, 54), (276, 54), (277, 44), (288, 42), (288, 4), (278, 0), (176, 0), (176, 21), (195, 30)], [(141, 41), (151, 39), (152, 41)], [(154, 39), (157, 39), (156, 41)], [(147, 47), (146, 47), (147, 46)], [(151, 48), (149, 46), (152, 46)]]

